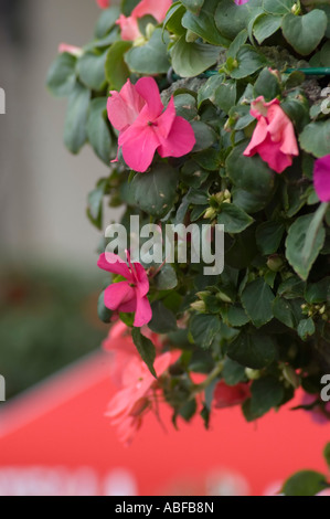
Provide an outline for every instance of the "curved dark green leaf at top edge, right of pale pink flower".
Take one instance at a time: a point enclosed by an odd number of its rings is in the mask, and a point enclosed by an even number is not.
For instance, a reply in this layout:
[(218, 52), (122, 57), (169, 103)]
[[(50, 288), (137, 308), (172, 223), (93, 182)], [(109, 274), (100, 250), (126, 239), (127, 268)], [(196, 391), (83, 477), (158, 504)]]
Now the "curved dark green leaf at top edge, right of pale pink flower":
[(182, 25), (213, 45), (228, 46), (230, 40), (222, 36), (215, 25), (214, 11), (215, 2), (205, 0), (198, 14), (187, 11), (182, 18)]

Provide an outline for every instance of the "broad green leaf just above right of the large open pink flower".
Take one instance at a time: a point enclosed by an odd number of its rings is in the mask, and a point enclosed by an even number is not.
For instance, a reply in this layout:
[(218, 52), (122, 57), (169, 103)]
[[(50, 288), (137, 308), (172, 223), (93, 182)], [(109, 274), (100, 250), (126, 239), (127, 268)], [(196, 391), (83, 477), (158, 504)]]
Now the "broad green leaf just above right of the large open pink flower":
[(198, 76), (214, 65), (220, 57), (219, 46), (188, 43), (181, 36), (172, 47), (172, 66), (181, 77)]

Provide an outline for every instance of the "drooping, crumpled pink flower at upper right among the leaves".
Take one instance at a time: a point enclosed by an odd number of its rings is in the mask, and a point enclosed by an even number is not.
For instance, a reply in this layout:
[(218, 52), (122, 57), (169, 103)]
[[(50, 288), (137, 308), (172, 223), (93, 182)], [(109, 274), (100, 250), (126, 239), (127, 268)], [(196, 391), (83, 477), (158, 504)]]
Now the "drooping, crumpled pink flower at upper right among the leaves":
[(299, 150), (292, 123), (279, 106), (278, 99), (265, 103), (263, 96), (252, 102), (251, 115), (258, 120), (244, 155), (259, 153), (269, 168), (281, 173), (292, 163)]

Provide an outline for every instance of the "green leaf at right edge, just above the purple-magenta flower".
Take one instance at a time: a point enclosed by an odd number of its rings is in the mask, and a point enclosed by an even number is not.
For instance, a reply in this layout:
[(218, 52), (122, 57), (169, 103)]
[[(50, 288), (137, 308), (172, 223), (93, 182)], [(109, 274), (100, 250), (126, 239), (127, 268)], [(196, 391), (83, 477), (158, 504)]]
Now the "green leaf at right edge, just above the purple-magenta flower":
[(330, 153), (330, 119), (310, 123), (300, 134), (299, 142), (305, 151), (315, 157), (324, 157)]

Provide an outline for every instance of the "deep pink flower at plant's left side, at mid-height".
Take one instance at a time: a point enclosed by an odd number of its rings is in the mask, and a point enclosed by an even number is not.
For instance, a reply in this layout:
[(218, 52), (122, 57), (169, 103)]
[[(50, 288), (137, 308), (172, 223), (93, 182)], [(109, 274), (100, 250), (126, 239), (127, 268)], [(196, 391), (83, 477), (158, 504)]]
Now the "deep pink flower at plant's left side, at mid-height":
[(134, 326), (147, 325), (152, 317), (150, 303), (147, 294), (149, 292), (149, 279), (140, 263), (130, 263), (129, 266), (116, 254), (102, 254), (98, 267), (103, 271), (120, 275), (125, 282), (113, 283), (105, 290), (104, 303), (110, 310), (123, 313), (135, 313)]

